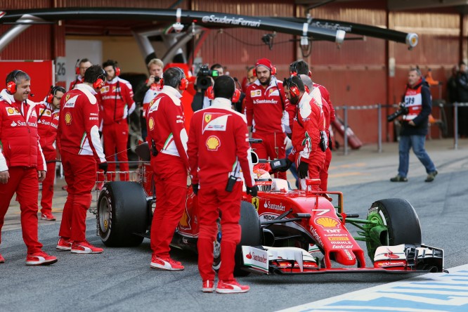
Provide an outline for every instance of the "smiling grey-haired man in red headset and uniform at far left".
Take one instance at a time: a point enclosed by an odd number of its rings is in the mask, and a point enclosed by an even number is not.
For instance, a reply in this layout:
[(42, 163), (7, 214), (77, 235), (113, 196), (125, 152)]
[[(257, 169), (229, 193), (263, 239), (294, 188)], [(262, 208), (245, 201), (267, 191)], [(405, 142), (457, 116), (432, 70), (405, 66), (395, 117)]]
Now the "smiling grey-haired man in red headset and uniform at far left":
[[(46, 161), (37, 134), (36, 104), (28, 100), (31, 78), (13, 70), (0, 93), (0, 241), (1, 228), (13, 194), (21, 209), (22, 239), (27, 247), (26, 265), (57, 262), (42, 251), (37, 238), (38, 181), (46, 177)], [(0, 264), (5, 259), (0, 254)]]

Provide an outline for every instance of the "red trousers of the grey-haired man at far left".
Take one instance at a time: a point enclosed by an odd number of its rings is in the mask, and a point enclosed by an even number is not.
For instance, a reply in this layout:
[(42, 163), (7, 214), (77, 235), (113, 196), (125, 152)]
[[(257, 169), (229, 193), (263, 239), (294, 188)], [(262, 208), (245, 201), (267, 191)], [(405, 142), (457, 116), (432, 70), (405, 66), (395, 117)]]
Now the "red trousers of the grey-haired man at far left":
[(0, 184), (0, 242), (5, 214), (16, 192), (18, 202), (20, 202), (22, 240), (25, 241), (27, 253), (40, 252), (42, 244), (37, 238), (37, 197), (39, 195), (37, 169), (10, 167), (8, 173), (10, 174), (8, 183)]

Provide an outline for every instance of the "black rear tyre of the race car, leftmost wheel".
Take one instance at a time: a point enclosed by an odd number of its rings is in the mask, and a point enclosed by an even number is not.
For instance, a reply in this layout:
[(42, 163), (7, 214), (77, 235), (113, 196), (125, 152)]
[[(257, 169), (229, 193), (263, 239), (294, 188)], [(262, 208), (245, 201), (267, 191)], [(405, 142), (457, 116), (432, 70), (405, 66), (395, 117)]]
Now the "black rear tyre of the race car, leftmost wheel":
[[(136, 182), (105, 183), (98, 198), (98, 233), (109, 247), (138, 246), (147, 227), (146, 195)], [(136, 235), (135, 233), (141, 233)]]

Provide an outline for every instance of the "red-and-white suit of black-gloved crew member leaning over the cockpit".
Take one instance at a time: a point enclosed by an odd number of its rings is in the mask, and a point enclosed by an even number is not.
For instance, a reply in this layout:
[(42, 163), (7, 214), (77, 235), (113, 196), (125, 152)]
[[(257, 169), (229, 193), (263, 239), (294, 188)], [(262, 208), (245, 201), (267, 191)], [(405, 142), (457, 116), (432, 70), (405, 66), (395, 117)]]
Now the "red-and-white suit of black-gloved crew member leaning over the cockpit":
[[(317, 101), (307, 93), (301, 97), (297, 105), (292, 131), (292, 151), (289, 160), (308, 163), (308, 177), (319, 178), (320, 169), (325, 161), (325, 152), (320, 149), (320, 131), (325, 131), (325, 117)], [(306, 179), (299, 179), (302, 190), (306, 188)], [(318, 190), (318, 186), (313, 186)]]

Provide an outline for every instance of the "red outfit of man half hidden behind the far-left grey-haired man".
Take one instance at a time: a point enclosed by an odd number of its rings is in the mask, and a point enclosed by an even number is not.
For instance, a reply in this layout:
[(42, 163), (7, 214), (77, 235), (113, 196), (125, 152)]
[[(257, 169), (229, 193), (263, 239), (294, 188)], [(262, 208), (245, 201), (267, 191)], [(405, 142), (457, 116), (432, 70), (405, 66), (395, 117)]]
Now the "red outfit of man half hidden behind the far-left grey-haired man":
[[(58, 117), (60, 110), (55, 110), (52, 105), (41, 102), (36, 106), (37, 130), (39, 131), (39, 142), (42, 152), (46, 158), (47, 174), (42, 181), (41, 212), (52, 212), (53, 182), (56, 178), (56, 138), (58, 128)], [(58, 141), (57, 141), (58, 143)]]

